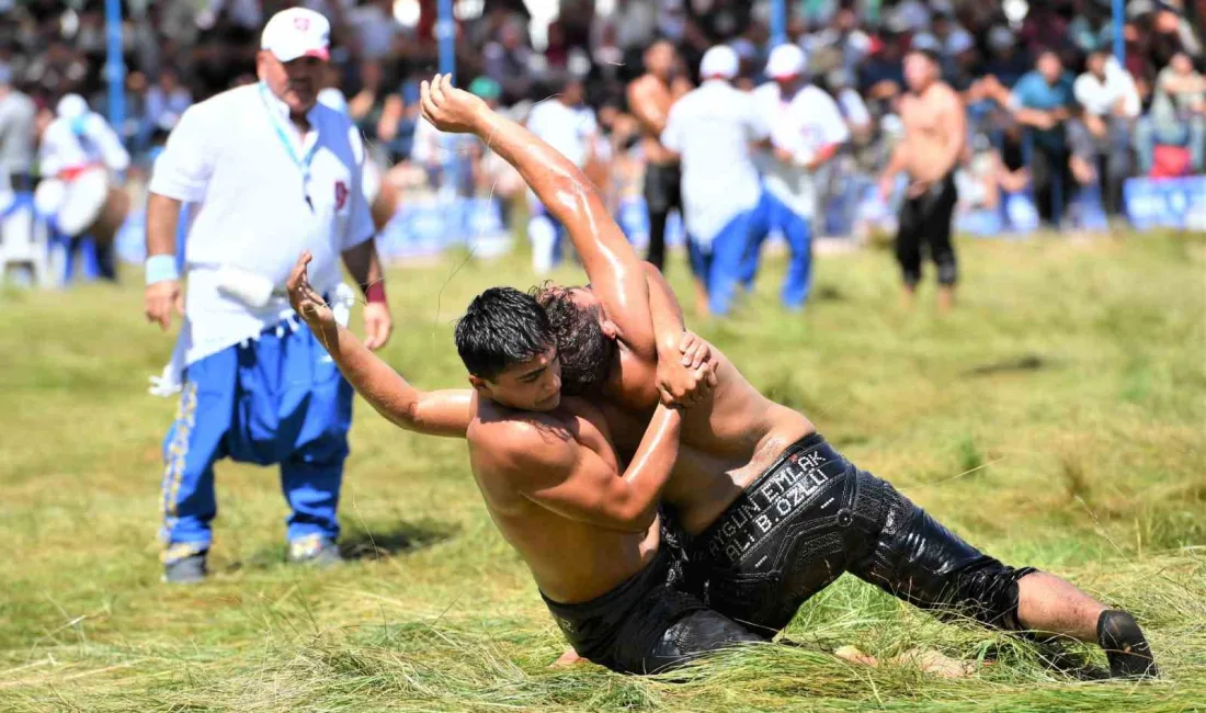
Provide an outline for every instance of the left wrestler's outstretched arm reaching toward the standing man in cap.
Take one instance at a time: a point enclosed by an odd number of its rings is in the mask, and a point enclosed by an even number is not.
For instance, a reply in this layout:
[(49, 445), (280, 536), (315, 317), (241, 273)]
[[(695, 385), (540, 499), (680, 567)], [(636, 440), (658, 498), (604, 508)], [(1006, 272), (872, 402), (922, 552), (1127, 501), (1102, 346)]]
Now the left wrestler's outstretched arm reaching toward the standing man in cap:
[(365, 347), (350, 331), (335, 322), (306, 276), (310, 252), (303, 252), (289, 275), (289, 304), (314, 332), (356, 392), (393, 423), (428, 436), (464, 438), (473, 414), (473, 391), (449, 388), (420, 391), (390, 364)]

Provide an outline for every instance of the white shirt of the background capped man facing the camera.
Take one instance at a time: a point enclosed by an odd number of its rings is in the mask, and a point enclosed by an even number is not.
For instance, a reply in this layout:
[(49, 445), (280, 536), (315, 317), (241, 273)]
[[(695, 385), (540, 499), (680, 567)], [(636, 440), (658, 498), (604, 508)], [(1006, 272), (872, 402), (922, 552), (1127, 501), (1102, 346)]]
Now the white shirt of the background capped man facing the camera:
[(822, 147), (850, 139), (842, 111), (829, 94), (813, 84), (784, 101), (779, 84), (767, 82), (754, 90), (754, 99), (759, 111), (771, 117), (771, 141), (794, 157), (794, 163), (786, 164), (760, 151), (763, 186), (792, 212), (810, 218), (816, 212), (816, 186), (802, 164), (810, 162)]

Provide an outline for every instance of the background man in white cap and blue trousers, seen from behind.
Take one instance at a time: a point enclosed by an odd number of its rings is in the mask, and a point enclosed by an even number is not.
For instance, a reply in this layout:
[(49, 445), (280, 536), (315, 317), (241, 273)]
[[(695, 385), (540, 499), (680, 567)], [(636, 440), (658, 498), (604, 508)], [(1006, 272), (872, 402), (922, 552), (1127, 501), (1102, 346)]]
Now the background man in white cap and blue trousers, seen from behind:
[(671, 107), (661, 136), (683, 166), (683, 217), (702, 314), (728, 312), (761, 193), (751, 144), (769, 146), (766, 118), (730, 83), (737, 66), (731, 48), (708, 49), (702, 83)]

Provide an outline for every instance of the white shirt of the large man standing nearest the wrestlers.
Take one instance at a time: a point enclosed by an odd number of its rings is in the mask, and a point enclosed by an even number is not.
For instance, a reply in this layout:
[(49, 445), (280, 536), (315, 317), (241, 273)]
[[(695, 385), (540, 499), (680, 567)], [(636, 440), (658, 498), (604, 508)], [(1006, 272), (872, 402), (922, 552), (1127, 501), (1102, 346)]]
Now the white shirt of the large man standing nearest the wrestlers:
[[(289, 316), (283, 288), (303, 250), (314, 253), (310, 282), (332, 293), (341, 282), (341, 253), (375, 233), (361, 186), (359, 133), (321, 104), (306, 118), (311, 130), (303, 139), (267, 87), (230, 89), (186, 111), (156, 162), (151, 192), (194, 204), (185, 247), (186, 363)], [(311, 151), (303, 181), (299, 162)], [(248, 306), (219, 287), (232, 269), (270, 281), (279, 294)]]

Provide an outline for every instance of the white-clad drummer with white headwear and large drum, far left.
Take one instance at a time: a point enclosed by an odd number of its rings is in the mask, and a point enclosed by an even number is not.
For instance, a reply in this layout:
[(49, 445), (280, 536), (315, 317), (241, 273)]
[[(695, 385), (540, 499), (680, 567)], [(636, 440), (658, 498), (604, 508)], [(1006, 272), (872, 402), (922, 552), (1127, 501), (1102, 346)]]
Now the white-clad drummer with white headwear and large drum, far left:
[(111, 255), (130, 209), (129, 197), (113, 185), (113, 174), (129, 168), (130, 154), (83, 97), (68, 94), (54, 113), (39, 147), (42, 182), (34, 203), (60, 234), (92, 235), (101, 255)]

